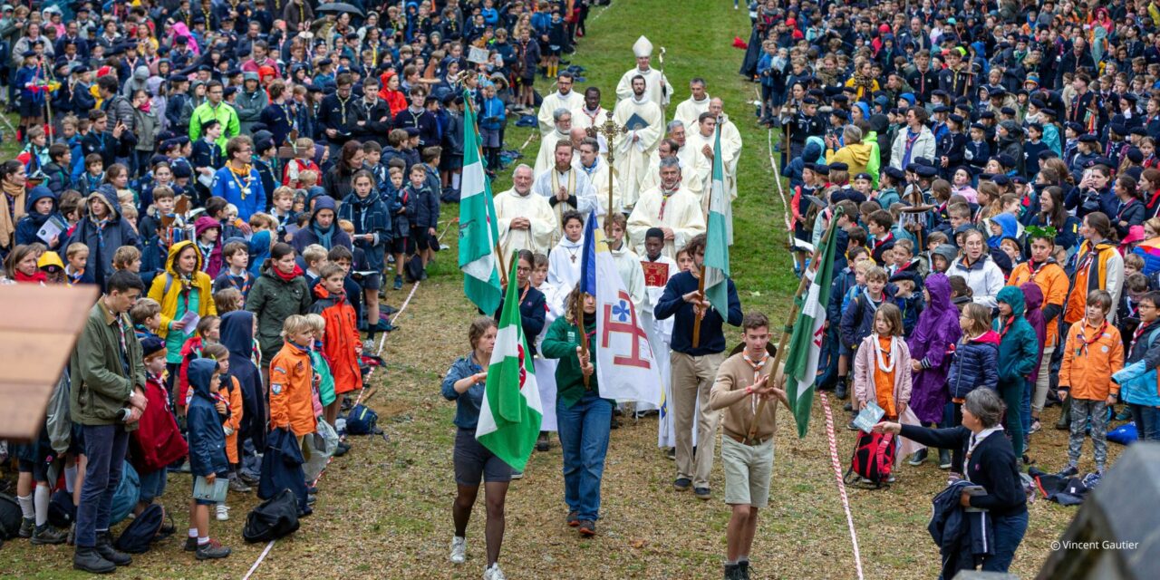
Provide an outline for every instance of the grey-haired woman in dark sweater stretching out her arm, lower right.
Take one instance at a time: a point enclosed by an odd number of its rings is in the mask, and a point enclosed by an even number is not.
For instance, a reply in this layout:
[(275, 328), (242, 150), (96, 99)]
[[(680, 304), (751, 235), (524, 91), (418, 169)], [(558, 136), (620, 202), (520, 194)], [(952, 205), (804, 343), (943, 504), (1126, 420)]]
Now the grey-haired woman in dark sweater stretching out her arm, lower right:
[[(1017, 290), (1017, 289), (1016, 289)], [(927, 447), (957, 448), (966, 456), (963, 476), (981, 486), (981, 495), (963, 492), (963, 507), (986, 509), (994, 527), (993, 552), (983, 557), (985, 572), (1007, 572), (1015, 550), (1027, 532), (1027, 494), (1020, 479), (1020, 463), (1012, 442), (1002, 436), (1003, 401), (991, 389), (976, 389), (963, 401), (963, 425), (930, 429), (883, 421), (875, 433), (893, 433)]]

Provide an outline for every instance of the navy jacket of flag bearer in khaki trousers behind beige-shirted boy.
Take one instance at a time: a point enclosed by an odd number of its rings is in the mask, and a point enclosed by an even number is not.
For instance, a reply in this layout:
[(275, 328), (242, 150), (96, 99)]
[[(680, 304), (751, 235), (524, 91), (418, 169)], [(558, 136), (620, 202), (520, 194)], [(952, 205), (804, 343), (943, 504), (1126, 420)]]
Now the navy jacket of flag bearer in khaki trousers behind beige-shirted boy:
[(728, 312), (725, 318), (720, 311), (711, 309), (701, 319), (701, 339), (697, 348), (693, 348), (693, 305), (684, 302), (683, 296), (697, 290), (697, 278), (687, 271), (682, 271), (668, 280), (665, 284), (665, 293), (653, 309), (657, 320), (674, 318), (672, 348), (677, 353), (690, 356), (703, 356), (725, 351), (725, 333), (722, 326), (728, 322), (732, 326), (741, 326), (741, 300), (737, 297), (737, 287), (728, 280)]

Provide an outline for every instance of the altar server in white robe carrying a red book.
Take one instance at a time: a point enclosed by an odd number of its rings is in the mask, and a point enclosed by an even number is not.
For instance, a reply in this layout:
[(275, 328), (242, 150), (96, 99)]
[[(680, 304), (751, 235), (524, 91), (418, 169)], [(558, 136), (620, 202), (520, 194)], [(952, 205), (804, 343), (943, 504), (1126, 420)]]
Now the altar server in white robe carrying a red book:
[(676, 447), (676, 432), (673, 428), (673, 415), (670, 413), (673, 400), (673, 385), (669, 384), (672, 376), (668, 354), (668, 343), (673, 338), (673, 319), (657, 320), (653, 311), (657, 302), (665, 293), (665, 285), (668, 278), (673, 277), (680, 268), (672, 258), (664, 254), (665, 232), (660, 227), (650, 227), (645, 233), (645, 253), (640, 258), (640, 270), (645, 281), (645, 298), (640, 304), (640, 324), (648, 334), (648, 345), (653, 350), (653, 360), (657, 361), (657, 370), (660, 371), (661, 399), (660, 406), (641, 403), (637, 404), (637, 412), (658, 411), (657, 447)]

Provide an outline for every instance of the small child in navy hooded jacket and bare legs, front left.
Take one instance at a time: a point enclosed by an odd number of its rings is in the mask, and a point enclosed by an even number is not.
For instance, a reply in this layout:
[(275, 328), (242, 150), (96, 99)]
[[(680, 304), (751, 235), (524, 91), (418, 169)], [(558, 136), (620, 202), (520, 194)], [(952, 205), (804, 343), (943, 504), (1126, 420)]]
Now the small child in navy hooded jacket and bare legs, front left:
[[(189, 470), (195, 481), (204, 477), (205, 483), (213, 485), (218, 477), (229, 477), (230, 459), (225, 452), (225, 430), (222, 420), (226, 416), (226, 403), (218, 394), (222, 383), (222, 370), (218, 362), (210, 358), (196, 358), (189, 363), (189, 385), (193, 397), (186, 409), (186, 423), (189, 429)], [(196, 552), (198, 560), (225, 558), (230, 549), (210, 539), (211, 500), (194, 499), (189, 501), (189, 537), (186, 538), (186, 551)]]

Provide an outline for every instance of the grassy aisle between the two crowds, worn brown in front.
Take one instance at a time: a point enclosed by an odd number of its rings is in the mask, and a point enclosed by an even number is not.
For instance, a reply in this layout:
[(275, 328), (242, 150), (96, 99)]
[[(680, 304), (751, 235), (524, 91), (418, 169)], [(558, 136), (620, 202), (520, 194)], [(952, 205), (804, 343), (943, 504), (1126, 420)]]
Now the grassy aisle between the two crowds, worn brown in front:
[[(573, 61), (588, 68), (587, 82), (611, 94), (619, 75), (632, 66), (631, 44), (644, 34), (668, 49), (666, 74), (677, 99), (687, 96), (690, 77), (708, 79), (710, 94), (725, 100), (745, 139), (739, 169), (740, 197), (734, 206), (737, 244), (732, 266), (746, 310), (760, 309), (775, 320), (789, 310), (796, 280), (784, 249), (784, 208), (768, 160), (767, 132), (754, 123), (754, 85), (737, 74), (742, 52), (730, 48), (733, 36), (748, 37), (745, 12), (724, 0), (619, 0), (589, 17), (589, 36)], [(658, 17), (659, 16), (659, 17)], [(672, 109), (670, 109), (672, 110)], [(510, 130), (508, 145), (524, 143), (528, 131)], [(524, 151), (534, 158), (538, 143)], [(501, 177), (495, 190), (510, 180)], [(444, 220), (457, 209), (444, 208)], [(448, 240), (454, 246), (454, 240)], [(484, 567), (483, 508), (477, 505), (469, 529), (469, 560), (447, 561), (451, 539), (450, 506), (454, 405), (438, 394), (438, 382), (451, 361), (467, 350), (466, 322), (473, 316), (463, 298), (455, 252), (437, 258), (430, 280), (415, 292), (400, 329), (384, 349), (385, 372), (376, 374), (378, 393), (370, 405), (380, 413), (380, 437), (356, 437), (355, 449), (335, 461), (319, 484), (314, 515), (293, 536), (276, 543), (254, 578), (479, 578)], [(392, 292), (399, 305), (405, 292)], [(839, 457), (844, 470), (854, 436), (835, 407)], [(1044, 413), (1045, 423), (1058, 411)], [(825, 420), (815, 405), (811, 432), (797, 438), (783, 413), (778, 425), (773, 502), (763, 512), (753, 553), (755, 578), (854, 578), (854, 558), (846, 517), (829, 463)], [(501, 561), (510, 578), (719, 578), (728, 509), (722, 503), (724, 480), (712, 478), (715, 500), (702, 502), (672, 491), (672, 462), (655, 447), (655, 419), (626, 421), (614, 432), (603, 481), (600, 535), (582, 541), (564, 523), (560, 451), (532, 456), (527, 476), (512, 485), (507, 536)], [(1058, 469), (1066, 456), (1064, 432), (1045, 430), (1032, 441), (1031, 455), (1045, 469)], [(1119, 451), (1115, 445), (1112, 454)], [(1086, 452), (1090, 457), (1090, 451)], [(1081, 464), (1090, 469), (1089, 459)], [(928, 579), (938, 573), (938, 554), (926, 531), (930, 498), (945, 473), (935, 466), (904, 466), (896, 485), (882, 491), (849, 490), (854, 524), (867, 578)], [(166, 507), (179, 530), (187, 523), (183, 499), (189, 481), (169, 478)], [(232, 495), (232, 520), (212, 522), (212, 535), (234, 548), (223, 561), (196, 563), (179, 538), (136, 557), (121, 572), (132, 578), (241, 578), (264, 545), (244, 544), (240, 530), (252, 494)], [(481, 502), (480, 502), (481, 503)], [(1031, 527), (1013, 572), (1031, 578), (1047, 556), (1049, 544), (1073, 516), (1072, 508), (1044, 501), (1030, 507)], [(12, 542), (0, 550), (0, 575), (9, 578), (79, 578), (71, 570), (71, 549), (34, 549)]]

